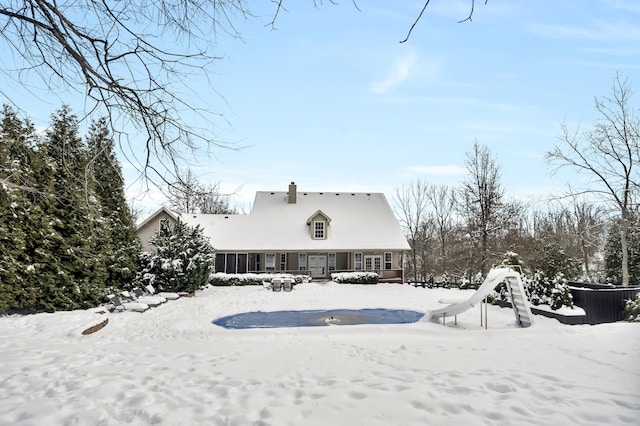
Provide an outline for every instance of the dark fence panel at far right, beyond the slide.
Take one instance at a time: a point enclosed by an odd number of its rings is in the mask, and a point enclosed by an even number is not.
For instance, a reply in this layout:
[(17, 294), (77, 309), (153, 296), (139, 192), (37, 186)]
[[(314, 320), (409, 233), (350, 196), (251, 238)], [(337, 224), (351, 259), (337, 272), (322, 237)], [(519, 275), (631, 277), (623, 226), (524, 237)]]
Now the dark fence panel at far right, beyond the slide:
[(625, 302), (640, 292), (640, 288), (576, 282), (570, 282), (569, 288), (573, 303), (585, 310), (588, 324), (624, 320)]

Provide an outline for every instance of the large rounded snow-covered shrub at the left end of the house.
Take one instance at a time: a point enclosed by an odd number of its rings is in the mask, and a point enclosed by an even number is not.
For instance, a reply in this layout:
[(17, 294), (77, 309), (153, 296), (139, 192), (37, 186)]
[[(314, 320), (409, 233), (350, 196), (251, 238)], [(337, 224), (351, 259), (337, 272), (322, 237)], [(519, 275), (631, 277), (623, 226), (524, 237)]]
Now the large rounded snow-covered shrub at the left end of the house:
[(138, 283), (189, 293), (206, 284), (214, 251), (199, 225), (194, 228), (178, 221), (173, 227), (162, 226), (151, 243), (157, 250), (140, 254)]

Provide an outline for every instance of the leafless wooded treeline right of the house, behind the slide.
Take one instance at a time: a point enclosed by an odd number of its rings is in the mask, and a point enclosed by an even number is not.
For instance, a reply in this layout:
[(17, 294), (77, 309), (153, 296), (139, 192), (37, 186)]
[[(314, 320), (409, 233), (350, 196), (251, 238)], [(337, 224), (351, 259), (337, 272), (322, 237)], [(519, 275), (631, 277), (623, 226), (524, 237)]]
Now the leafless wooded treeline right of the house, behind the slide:
[[(535, 204), (508, 199), (489, 148), (475, 144), (467, 160), (460, 186), (417, 179), (396, 189), (396, 212), (411, 246), (408, 278), (446, 274), (473, 282), (515, 252), (532, 275), (554, 264), (578, 264), (565, 278), (622, 284), (620, 217), (585, 196)], [(637, 207), (628, 220), (630, 284), (640, 285)]]

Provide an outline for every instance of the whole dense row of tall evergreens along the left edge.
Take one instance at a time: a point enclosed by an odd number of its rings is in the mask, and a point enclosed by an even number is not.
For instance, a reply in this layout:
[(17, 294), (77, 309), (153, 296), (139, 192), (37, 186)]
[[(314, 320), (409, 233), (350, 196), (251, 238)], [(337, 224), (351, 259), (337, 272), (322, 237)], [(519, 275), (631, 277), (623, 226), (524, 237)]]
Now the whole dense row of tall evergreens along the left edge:
[(9, 107), (0, 118), (0, 312), (95, 306), (139, 251), (106, 122), (89, 152), (68, 107), (40, 139)]

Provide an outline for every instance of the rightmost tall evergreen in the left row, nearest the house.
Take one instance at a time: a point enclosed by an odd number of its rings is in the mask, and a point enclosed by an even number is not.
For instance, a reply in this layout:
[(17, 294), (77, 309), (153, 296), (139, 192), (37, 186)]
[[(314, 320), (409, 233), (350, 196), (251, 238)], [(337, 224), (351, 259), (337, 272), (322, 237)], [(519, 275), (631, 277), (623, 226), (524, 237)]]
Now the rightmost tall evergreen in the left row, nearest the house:
[(140, 241), (124, 193), (124, 179), (105, 118), (94, 122), (87, 138), (94, 178), (93, 190), (100, 205), (98, 239), (106, 261), (106, 285), (127, 287), (135, 277)]

